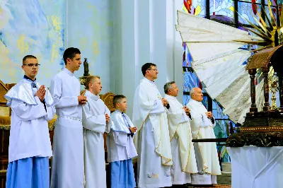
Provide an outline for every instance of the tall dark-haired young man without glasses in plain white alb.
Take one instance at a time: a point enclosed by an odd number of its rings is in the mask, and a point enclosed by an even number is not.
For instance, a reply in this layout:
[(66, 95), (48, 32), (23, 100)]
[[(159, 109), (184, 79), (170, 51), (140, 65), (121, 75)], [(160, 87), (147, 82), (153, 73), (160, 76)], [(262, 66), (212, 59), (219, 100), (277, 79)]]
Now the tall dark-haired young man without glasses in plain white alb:
[(54, 129), (52, 188), (83, 187), (83, 125), (80, 82), (74, 71), (81, 66), (81, 52), (70, 47), (63, 54), (65, 69), (51, 81), (50, 92), (55, 102), (57, 121)]

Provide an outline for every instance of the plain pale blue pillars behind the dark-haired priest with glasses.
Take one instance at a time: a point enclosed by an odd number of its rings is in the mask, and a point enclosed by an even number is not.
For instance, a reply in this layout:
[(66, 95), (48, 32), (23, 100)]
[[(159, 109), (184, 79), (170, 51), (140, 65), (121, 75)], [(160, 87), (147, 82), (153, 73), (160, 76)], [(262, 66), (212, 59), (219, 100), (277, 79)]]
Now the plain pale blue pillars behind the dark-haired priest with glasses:
[(182, 40), (175, 32), (176, 13), (182, 0), (117, 0), (110, 18), (112, 28), (112, 59), (110, 90), (126, 95), (127, 114), (132, 117), (134, 90), (143, 78), (141, 66), (152, 62), (158, 66), (156, 86), (163, 95), (163, 85), (176, 81), (182, 101)]

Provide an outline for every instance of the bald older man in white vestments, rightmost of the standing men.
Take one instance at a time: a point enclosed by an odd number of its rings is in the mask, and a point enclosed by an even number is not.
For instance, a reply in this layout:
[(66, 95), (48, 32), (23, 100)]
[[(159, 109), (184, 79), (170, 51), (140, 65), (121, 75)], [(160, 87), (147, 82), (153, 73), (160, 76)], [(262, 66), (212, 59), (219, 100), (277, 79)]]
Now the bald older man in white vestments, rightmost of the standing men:
[[(215, 139), (214, 117), (202, 105), (203, 94), (200, 88), (190, 90), (190, 109), (192, 139)], [(212, 123), (213, 122), (213, 123)], [(198, 174), (192, 175), (192, 184), (216, 184), (216, 175), (221, 175), (215, 142), (194, 143)]]

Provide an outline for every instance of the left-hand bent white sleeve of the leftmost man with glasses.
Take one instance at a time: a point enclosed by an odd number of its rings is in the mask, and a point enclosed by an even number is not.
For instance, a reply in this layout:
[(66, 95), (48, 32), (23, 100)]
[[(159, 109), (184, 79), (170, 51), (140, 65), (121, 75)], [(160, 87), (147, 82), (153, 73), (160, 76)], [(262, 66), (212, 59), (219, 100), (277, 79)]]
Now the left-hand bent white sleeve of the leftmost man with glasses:
[(40, 102), (40, 99), (37, 98), (37, 96), (35, 96), (35, 100), (37, 105), (28, 105), (21, 100), (12, 100), (11, 109), (22, 121), (30, 121), (45, 117), (47, 112), (45, 111), (44, 105)]

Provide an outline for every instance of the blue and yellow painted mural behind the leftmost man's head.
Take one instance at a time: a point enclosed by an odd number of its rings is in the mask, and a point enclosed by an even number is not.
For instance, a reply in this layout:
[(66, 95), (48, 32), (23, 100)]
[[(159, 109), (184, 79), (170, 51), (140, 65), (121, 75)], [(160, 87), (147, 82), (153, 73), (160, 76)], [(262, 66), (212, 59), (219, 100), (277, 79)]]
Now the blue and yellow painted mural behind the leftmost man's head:
[(16, 83), (23, 77), (22, 59), (37, 57), (37, 79), (50, 85), (64, 65), (65, 0), (0, 0), (0, 79)]

